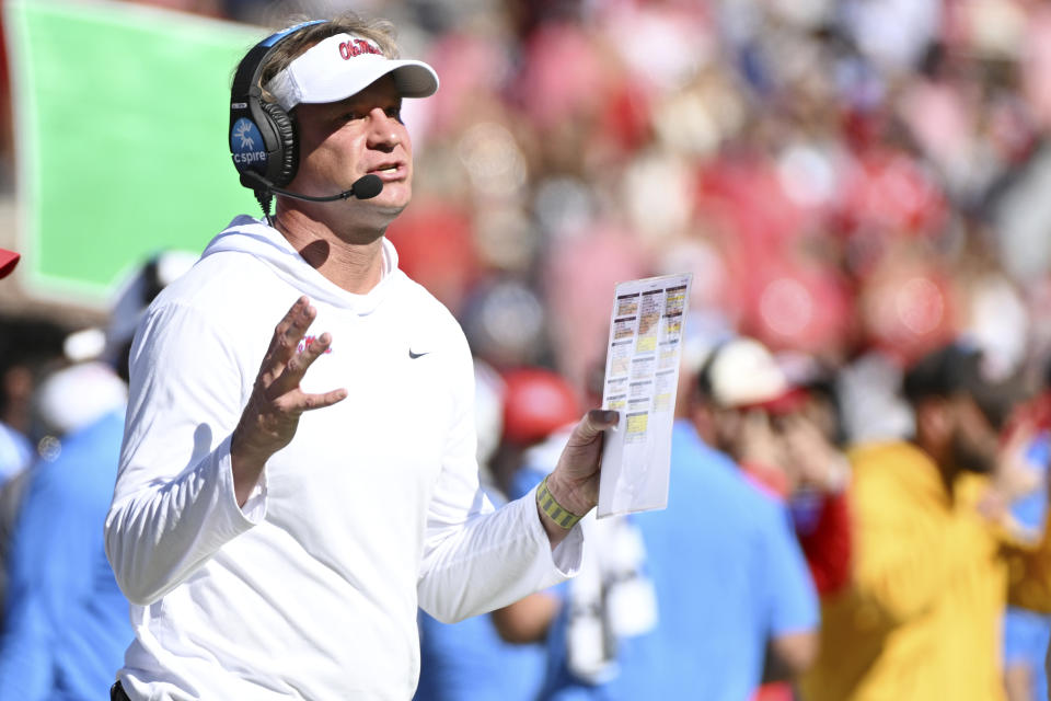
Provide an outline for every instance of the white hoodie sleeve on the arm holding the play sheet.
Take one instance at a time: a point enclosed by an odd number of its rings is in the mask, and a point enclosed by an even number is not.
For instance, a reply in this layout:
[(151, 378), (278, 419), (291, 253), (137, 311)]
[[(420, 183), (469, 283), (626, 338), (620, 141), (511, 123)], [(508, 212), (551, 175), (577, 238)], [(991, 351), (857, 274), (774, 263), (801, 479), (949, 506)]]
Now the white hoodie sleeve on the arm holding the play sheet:
[(573, 576), (584, 545), (578, 525), (552, 551), (533, 492), (494, 510), (478, 484), (474, 374), (465, 341), (458, 355), (455, 407), (427, 512), (417, 585), (420, 608), (443, 622), (507, 606)]

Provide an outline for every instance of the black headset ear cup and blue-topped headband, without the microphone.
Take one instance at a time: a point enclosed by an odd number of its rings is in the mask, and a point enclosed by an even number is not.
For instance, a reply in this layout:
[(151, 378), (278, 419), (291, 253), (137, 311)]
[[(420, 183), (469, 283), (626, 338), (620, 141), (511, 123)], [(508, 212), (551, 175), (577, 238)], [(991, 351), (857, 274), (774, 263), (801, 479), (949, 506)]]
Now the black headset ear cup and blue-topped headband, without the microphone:
[(267, 59), (289, 36), (327, 20), (311, 20), (256, 44), (238, 65), (230, 91), (230, 153), (241, 184), (255, 192), (264, 214), (275, 187), (296, 177), (299, 165), (296, 125), (279, 104), (263, 100), (259, 78)]

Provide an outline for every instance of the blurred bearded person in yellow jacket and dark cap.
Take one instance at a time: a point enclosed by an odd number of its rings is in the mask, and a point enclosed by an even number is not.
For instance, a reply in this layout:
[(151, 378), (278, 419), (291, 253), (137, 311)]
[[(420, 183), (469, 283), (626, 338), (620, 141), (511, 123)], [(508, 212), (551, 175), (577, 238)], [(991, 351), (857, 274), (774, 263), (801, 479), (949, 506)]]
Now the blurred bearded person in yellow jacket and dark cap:
[(851, 453), (852, 579), (822, 601), (807, 701), (1002, 700), (1005, 605), (1051, 610), (1051, 538), (1013, 538), (1000, 506), (996, 466), (1025, 440), (998, 441), (1017, 394), (961, 345), (917, 363), (904, 392), (914, 439)]

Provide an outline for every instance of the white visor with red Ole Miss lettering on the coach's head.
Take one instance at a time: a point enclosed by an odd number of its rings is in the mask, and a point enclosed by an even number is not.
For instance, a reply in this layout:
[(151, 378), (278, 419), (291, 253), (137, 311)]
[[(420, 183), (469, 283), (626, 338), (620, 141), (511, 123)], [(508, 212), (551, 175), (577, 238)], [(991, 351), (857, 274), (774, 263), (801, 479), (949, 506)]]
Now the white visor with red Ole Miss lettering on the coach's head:
[(391, 59), (372, 39), (336, 34), (298, 56), (266, 83), (281, 107), (339, 102), (386, 76), (403, 97), (427, 97), (438, 90), (438, 73), (423, 61)]

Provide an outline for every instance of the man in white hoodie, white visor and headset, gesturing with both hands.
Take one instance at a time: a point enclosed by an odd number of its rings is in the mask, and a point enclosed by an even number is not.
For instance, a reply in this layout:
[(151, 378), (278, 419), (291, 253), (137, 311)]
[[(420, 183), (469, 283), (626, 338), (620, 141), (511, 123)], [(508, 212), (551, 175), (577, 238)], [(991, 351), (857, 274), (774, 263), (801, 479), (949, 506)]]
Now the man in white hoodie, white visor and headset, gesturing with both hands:
[(239, 67), (231, 150), (267, 217), (234, 219), (136, 334), (106, 519), (136, 631), (114, 698), (408, 699), (417, 604), (459, 620), (580, 562), (617, 415), (585, 416), (527, 497), (478, 490), (466, 341), (383, 237), (412, 194), (401, 101), (438, 87), (395, 51), (344, 16)]

